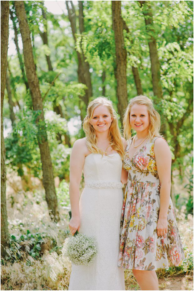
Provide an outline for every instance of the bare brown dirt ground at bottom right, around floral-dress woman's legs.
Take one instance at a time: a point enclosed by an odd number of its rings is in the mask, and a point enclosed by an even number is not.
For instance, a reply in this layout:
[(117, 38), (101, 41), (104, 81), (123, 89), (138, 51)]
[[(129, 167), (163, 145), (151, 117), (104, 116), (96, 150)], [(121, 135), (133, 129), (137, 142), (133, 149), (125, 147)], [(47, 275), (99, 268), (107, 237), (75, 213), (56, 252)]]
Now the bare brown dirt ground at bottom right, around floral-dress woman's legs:
[[(159, 278), (160, 290), (193, 290), (193, 280), (191, 276), (177, 276)], [(140, 290), (136, 282), (132, 284), (125, 281), (126, 290)]]

